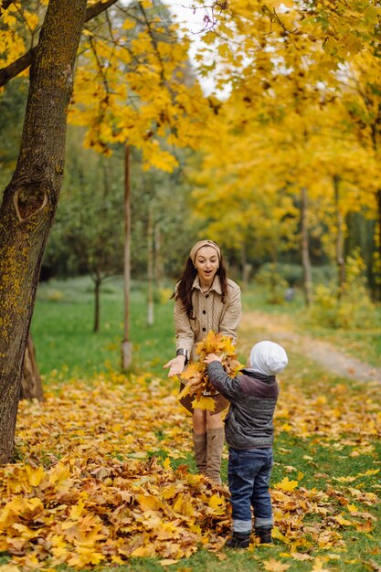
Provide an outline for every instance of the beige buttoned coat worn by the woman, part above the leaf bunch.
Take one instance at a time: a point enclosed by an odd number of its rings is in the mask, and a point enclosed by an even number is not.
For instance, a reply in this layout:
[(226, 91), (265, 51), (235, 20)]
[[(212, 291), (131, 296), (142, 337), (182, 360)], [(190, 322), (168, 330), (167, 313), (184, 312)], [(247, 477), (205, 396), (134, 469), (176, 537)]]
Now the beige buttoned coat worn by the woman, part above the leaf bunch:
[(219, 277), (216, 276), (211, 289), (204, 294), (201, 290), (198, 275), (192, 286), (193, 315), (190, 320), (183, 303), (175, 301), (175, 338), (176, 350), (184, 348), (191, 359), (196, 356), (196, 344), (213, 330), (230, 335), (237, 342), (237, 328), (241, 318), (240, 288), (236, 282), (228, 280), (228, 297), (222, 303), (222, 291)]

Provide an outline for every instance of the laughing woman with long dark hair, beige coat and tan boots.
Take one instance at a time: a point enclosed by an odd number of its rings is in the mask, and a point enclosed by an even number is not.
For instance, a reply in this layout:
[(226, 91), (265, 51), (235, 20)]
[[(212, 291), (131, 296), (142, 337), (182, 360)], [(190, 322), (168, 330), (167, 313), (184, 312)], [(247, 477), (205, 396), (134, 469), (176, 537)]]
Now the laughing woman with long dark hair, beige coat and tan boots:
[[(170, 377), (181, 376), (187, 361), (196, 357), (197, 342), (210, 330), (237, 342), (240, 289), (227, 278), (216, 242), (200, 240), (192, 247), (174, 297), (176, 357), (164, 365)], [(193, 442), (198, 471), (221, 482), (224, 427), (220, 413), (194, 409)]]

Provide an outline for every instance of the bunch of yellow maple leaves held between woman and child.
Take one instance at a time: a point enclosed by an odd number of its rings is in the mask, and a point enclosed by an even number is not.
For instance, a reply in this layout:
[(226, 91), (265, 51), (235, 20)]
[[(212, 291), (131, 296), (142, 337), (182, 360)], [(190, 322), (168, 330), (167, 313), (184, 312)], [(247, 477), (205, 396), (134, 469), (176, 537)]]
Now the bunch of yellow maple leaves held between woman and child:
[(229, 377), (237, 376), (239, 369), (243, 367), (238, 362), (236, 347), (228, 335), (216, 334), (211, 330), (206, 334), (202, 342), (196, 345), (196, 360), (190, 362), (181, 374), (181, 380), (185, 387), (179, 393), (178, 399), (189, 395), (195, 396), (193, 408), (214, 409), (214, 403), (210, 399), (217, 394), (217, 389), (209, 381), (207, 365), (204, 359), (208, 354), (216, 354), (222, 358), (222, 366)]

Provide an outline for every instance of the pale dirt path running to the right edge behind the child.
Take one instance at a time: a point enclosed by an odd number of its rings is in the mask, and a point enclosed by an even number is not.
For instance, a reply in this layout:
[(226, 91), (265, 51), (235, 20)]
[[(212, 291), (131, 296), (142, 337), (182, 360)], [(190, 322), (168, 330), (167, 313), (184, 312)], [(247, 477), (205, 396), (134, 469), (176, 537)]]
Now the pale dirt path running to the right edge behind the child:
[[(309, 359), (323, 365), (337, 376), (356, 381), (376, 381), (381, 383), (381, 368), (365, 364), (352, 355), (346, 355), (338, 347), (322, 340), (294, 331), (291, 318), (286, 315), (271, 315), (262, 312), (243, 314), (240, 331), (252, 331), (253, 342), (270, 338), (289, 351), (305, 354)], [(249, 349), (249, 348), (248, 348)]]

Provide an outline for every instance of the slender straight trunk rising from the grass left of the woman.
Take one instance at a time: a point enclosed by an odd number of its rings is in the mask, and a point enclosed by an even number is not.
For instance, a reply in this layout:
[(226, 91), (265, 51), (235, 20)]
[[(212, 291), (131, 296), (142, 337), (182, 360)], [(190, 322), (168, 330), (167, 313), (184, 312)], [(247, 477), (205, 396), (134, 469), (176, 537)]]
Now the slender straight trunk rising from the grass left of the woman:
[(124, 154), (124, 339), (122, 341), (122, 370), (132, 364), (130, 341), (130, 290), (131, 290), (131, 181), (130, 147)]

